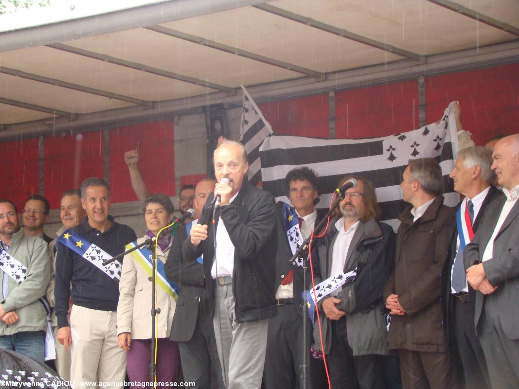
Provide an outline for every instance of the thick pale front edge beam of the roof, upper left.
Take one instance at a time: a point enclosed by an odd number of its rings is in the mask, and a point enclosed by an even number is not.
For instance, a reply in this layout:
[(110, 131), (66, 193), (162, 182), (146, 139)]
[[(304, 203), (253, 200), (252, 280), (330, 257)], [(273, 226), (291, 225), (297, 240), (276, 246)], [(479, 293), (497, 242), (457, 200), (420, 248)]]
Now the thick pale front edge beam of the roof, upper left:
[[(78, 19), (45, 21), (42, 25), (0, 32), (0, 51), (109, 34), (264, 2), (265, 0), (170, 0)], [(9, 15), (2, 15), (1, 18), (9, 18)]]

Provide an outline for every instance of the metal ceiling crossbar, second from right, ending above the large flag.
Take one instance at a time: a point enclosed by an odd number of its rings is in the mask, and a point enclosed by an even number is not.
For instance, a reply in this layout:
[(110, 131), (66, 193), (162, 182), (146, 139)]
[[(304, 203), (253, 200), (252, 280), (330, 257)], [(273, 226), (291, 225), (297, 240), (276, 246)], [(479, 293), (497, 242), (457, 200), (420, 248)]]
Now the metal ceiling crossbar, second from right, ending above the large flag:
[(338, 35), (343, 38), (354, 40), (358, 43), (361, 43), (361, 44), (364, 44), (367, 46), (371, 46), (371, 47), (375, 47), (377, 49), (384, 50), (384, 51), (390, 52), (392, 54), (401, 55), (401, 57), (405, 57), (407, 59), (417, 61), (419, 63), (424, 63), (424, 61), (425, 61), (424, 55), (420, 55), (420, 54), (417, 54), (417, 53), (414, 53), (411, 51), (407, 51), (407, 50), (398, 48), (396, 46), (393, 46), (393, 45), (390, 45), (387, 43), (379, 42), (378, 40), (367, 38), (365, 36), (352, 33), (351, 31), (347, 31), (347, 30), (341, 29), (339, 27), (335, 27), (333, 25), (323, 23), (323, 22), (320, 22), (315, 19), (307, 18), (306, 16), (298, 15), (297, 13), (290, 12), (290, 11), (284, 10), (282, 8), (278, 8), (278, 7), (269, 5), (269, 4), (254, 5), (253, 7), (257, 8), (257, 9), (261, 9), (262, 11), (265, 11), (265, 12), (272, 13), (273, 15), (277, 15), (282, 18), (292, 20), (294, 22), (308, 25), (310, 27), (319, 29), (321, 31), (324, 31), (324, 32), (327, 32), (330, 34), (334, 34), (334, 35)]

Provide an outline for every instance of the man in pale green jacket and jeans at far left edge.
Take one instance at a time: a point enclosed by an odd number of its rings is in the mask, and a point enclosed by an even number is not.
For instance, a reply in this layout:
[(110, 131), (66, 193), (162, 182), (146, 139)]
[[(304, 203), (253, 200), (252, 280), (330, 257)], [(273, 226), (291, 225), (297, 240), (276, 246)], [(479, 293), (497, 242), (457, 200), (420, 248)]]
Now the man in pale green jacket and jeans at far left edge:
[(0, 200), (0, 266), (0, 348), (44, 363), (47, 312), (42, 299), (50, 279), (50, 253), (47, 243), (20, 229), (18, 211), (9, 200)]

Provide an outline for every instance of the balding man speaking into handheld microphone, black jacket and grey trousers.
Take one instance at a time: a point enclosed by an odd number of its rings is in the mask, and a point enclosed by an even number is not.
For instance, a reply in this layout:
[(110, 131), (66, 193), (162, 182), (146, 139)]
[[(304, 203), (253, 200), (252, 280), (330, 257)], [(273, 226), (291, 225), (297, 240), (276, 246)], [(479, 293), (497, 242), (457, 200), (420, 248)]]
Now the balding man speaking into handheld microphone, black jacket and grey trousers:
[[(218, 356), (228, 389), (260, 387), (268, 318), (276, 315), (276, 204), (247, 180), (247, 153), (223, 141), (214, 151), (220, 206), (213, 196), (183, 245), (186, 260), (203, 253)], [(227, 178), (229, 183), (222, 182)], [(216, 250), (215, 250), (216, 247)], [(207, 259), (207, 260), (206, 260)]]

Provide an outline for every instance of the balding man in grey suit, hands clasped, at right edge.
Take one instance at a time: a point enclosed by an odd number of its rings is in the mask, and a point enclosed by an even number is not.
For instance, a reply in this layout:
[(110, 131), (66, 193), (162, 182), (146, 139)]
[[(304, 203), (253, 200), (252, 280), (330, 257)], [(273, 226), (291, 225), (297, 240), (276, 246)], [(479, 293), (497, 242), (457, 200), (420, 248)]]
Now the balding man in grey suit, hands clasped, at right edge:
[(494, 147), (498, 183), (506, 198), (488, 204), (463, 259), (476, 293), (474, 325), (493, 388), (519, 387), (519, 134)]

